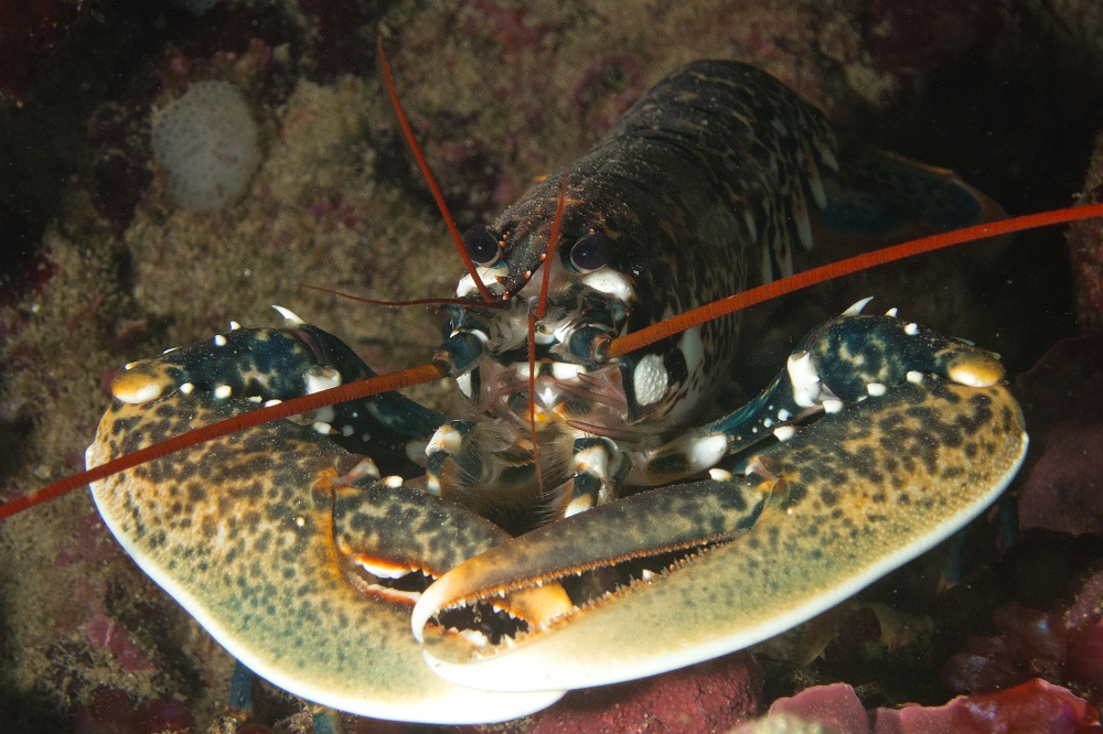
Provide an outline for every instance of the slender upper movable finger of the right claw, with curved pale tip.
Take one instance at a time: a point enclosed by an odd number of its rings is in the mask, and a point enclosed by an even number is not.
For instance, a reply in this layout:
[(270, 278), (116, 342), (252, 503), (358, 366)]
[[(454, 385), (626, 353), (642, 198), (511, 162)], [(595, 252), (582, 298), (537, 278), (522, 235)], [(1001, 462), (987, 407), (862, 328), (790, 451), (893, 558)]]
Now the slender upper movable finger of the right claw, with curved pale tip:
[[(429, 586), (414, 608), (414, 634), (424, 639), (427, 658), (433, 661), (473, 661), (494, 648), (457, 646), (429, 620), (449, 609), (490, 603), (503, 595), (510, 598), (554, 589), (556, 596), (548, 597), (538, 614), (526, 619), (523, 633), (504, 638), (499, 647), (550, 633), (592, 607), (654, 583), (687, 559), (746, 533), (767, 505), (771, 484), (733, 477), (664, 487), (508, 540)], [(560, 582), (583, 574), (590, 574), (589, 584), (575, 583), (571, 594), (561, 591)]]

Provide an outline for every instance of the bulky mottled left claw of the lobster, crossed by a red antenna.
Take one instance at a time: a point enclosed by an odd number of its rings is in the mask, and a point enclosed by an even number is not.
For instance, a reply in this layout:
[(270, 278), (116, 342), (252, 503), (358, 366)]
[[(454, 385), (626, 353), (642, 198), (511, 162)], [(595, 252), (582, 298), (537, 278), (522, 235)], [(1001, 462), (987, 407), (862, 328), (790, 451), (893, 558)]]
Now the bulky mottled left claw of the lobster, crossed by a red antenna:
[[(246, 407), (180, 395), (116, 402), (88, 464)], [(280, 421), (98, 482), (93, 494), (138, 565), (232, 655), (292, 693), (352, 713), (436, 723), (502, 721), (558, 699), (472, 691), (438, 678), (410, 635), (410, 602), (361, 591), (374, 583), (367, 570), (384, 565), (357, 562), (381, 539), (373, 527), (403, 538), (396, 548), (445, 549), (407, 562), (427, 570), (504, 538), (424, 493), (362, 487), (364, 466), (313, 429)], [(387, 521), (372, 525), (373, 517)]]

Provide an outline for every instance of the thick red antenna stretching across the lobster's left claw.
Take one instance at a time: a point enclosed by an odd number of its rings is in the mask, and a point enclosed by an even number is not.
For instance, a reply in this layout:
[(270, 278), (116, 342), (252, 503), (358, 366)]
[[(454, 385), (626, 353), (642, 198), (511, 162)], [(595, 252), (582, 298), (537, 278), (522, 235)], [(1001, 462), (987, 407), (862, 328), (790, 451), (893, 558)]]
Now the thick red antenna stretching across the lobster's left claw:
[(191, 449), (192, 446), (213, 439), (219, 439), (224, 435), (229, 435), (231, 433), (244, 431), (245, 429), (263, 425), (264, 423), (271, 423), (272, 421), (278, 421), (282, 418), (310, 412), (311, 410), (318, 410), (319, 408), (333, 406), (346, 400), (365, 398), (371, 395), (378, 395), (390, 390), (400, 390), (401, 388), (421, 385), (422, 382), (431, 382), (432, 380), (440, 379), (443, 376), (443, 367), (437, 363), (429, 363), (427, 365), (419, 365), (417, 367), (403, 369), (397, 373), (390, 373), (389, 375), (379, 375), (378, 377), (372, 377), (365, 380), (356, 380), (355, 382), (341, 385), (329, 390), (322, 390), (320, 392), (312, 392), (311, 395), (304, 395), (299, 398), (292, 398), (275, 406), (259, 408), (248, 413), (242, 413), (240, 415), (218, 421), (217, 423), (211, 423), (210, 425), (204, 425), (203, 428), (186, 431), (179, 435), (174, 435), (167, 441), (162, 441), (161, 443), (139, 449), (133, 453), (119, 456), (118, 458), (109, 461), (106, 464), (100, 464), (95, 468), (65, 477), (64, 479), (55, 482), (46, 487), (43, 487), (42, 489), (38, 489), (23, 495), (22, 497), (17, 497), (11, 501), (4, 503), (3, 505), (0, 505), (0, 520), (4, 520), (17, 512), (23, 511), (24, 509), (34, 507), (35, 505), (41, 505), (42, 503), (49, 501), (54, 497), (60, 497), (67, 492), (83, 487), (89, 482), (98, 482), (99, 479), (109, 477), (113, 474), (118, 474), (119, 472), (125, 472), (128, 468), (133, 468), (139, 464), (144, 464), (153, 461), (154, 458), (161, 458), (162, 456), (174, 454), (178, 451), (183, 451), (184, 449)]

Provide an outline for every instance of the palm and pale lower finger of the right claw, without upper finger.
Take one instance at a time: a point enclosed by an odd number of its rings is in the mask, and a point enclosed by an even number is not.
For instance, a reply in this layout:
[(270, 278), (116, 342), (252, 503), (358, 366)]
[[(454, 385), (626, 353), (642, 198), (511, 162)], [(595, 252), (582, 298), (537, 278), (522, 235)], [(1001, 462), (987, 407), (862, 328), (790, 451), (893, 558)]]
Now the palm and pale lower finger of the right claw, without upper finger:
[(737, 540), (515, 645), (464, 662), (432, 648), (426, 657), (464, 686), (535, 691), (641, 678), (747, 647), (963, 527), (1003, 492), (1026, 446), (1005, 388), (906, 384), (764, 452), (753, 465), (779, 481), (775, 494)]

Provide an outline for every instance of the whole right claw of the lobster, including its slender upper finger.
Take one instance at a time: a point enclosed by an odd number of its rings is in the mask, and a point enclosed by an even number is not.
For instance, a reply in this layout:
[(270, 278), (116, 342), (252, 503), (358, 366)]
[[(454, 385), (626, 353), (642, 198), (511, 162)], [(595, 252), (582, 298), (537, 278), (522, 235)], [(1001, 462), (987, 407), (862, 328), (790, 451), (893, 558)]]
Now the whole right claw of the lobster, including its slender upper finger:
[[(445, 574), (415, 608), (415, 626), (504, 589), (617, 569), (621, 549), (583, 542), (613, 535), (604, 514), (625, 505), (643, 536), (633, 547), (689, 552), (658, 555), (657, 572), (635, 571), (508, 645), (461, 650), (426, 626), (427, 660), (449, 680), (501, 691), (599, 686), (707, 660), (808, 619), (945, 539), (1003, 492), (1026, 446), (1004, 387), (907, 381), (771, 446), (749, 464), (760, 476), (699, 487), (742, 496), (742, 517), (677, 515), (674, 489), (582, 512)], [(695, 540), (685, 523), (697, 526)]]

